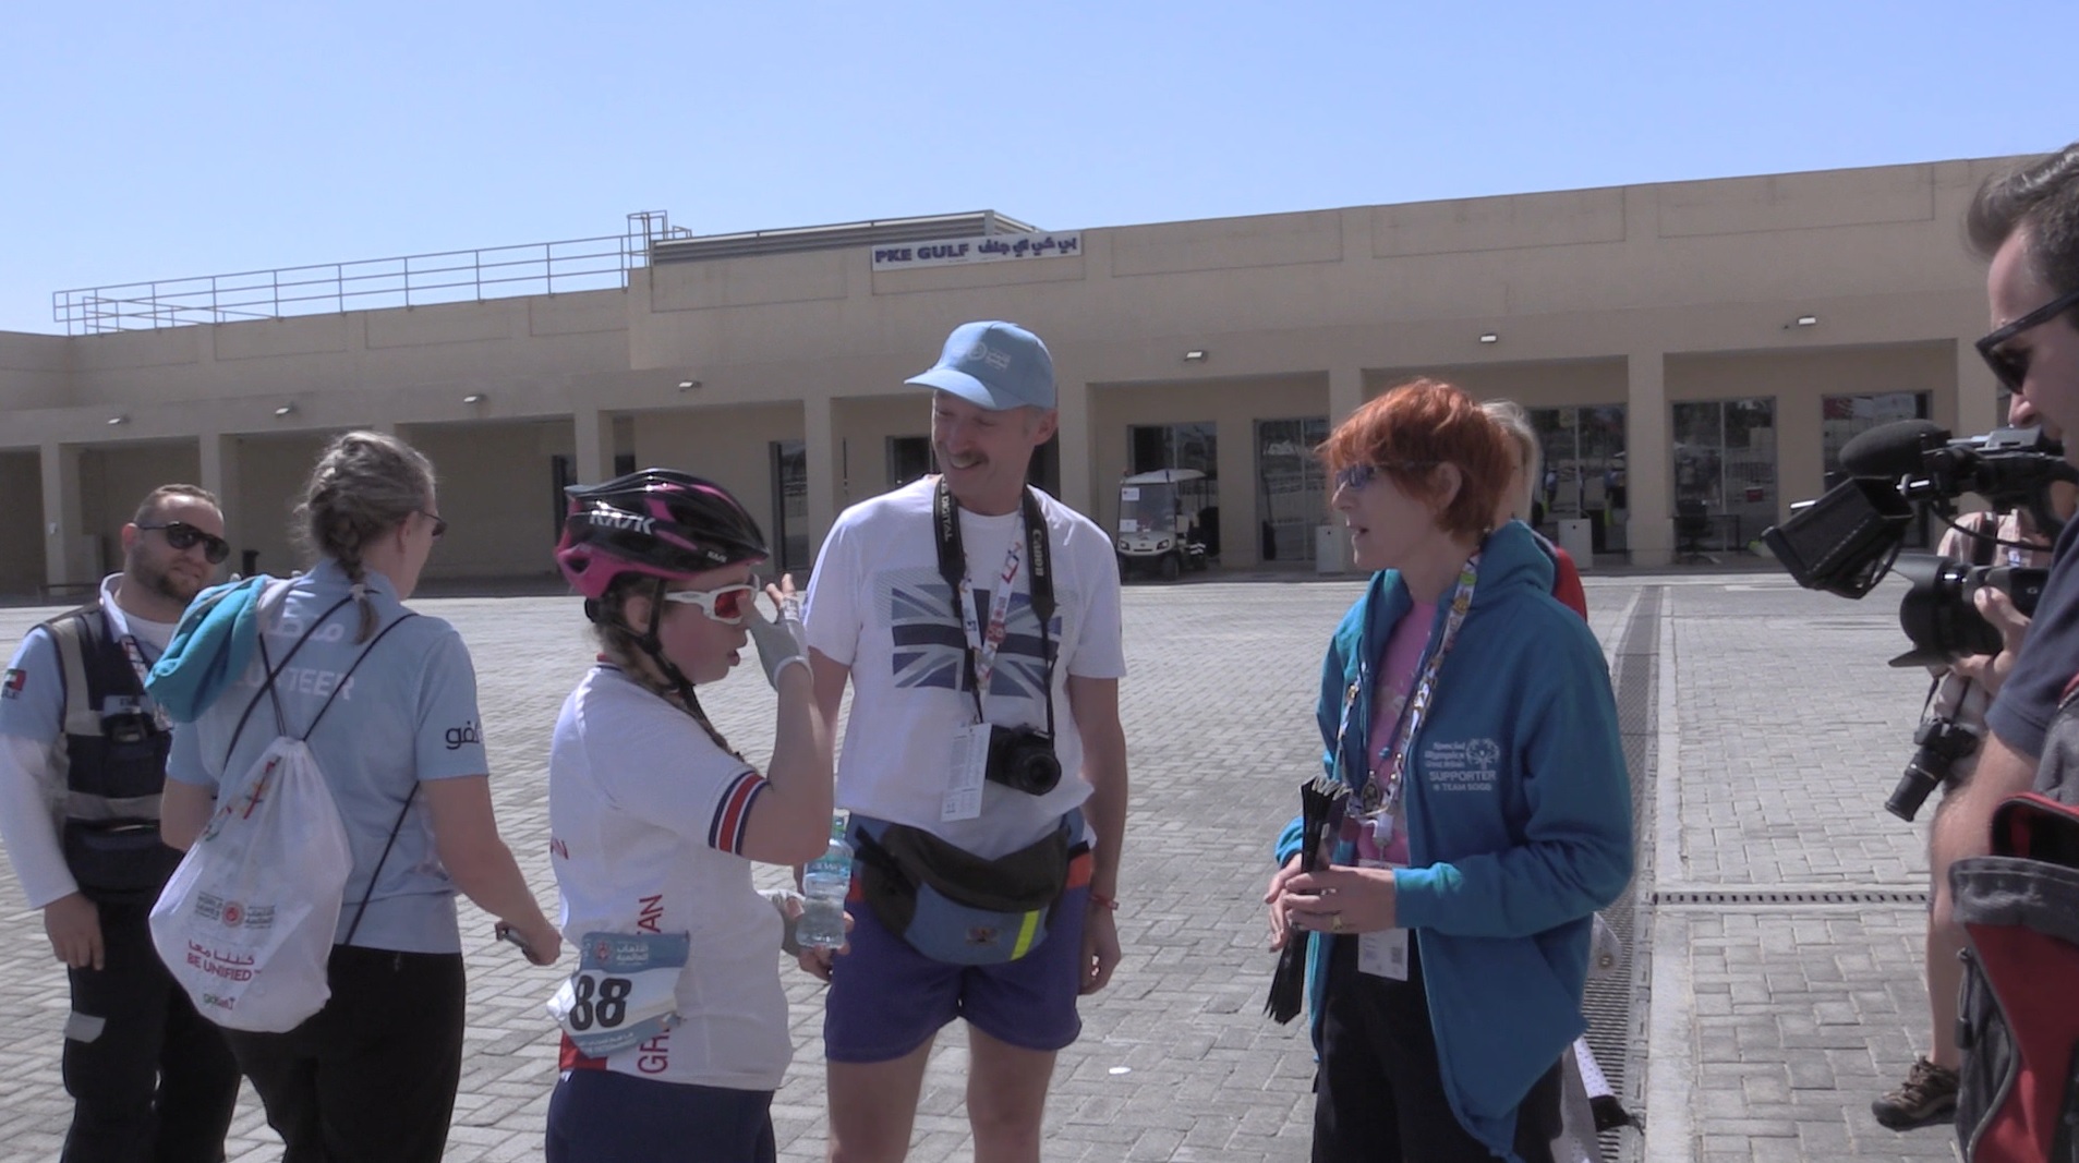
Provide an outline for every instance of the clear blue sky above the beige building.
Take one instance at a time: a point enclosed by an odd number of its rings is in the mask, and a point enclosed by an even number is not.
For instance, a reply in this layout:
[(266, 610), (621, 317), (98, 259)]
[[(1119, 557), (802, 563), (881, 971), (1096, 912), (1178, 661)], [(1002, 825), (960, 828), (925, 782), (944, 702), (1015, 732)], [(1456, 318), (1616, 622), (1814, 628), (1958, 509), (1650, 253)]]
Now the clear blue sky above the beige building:
[(10, 0), (0, 330), (50, 293), (615, 235), (1046, 228), (2031, 154), (2073, 0)]

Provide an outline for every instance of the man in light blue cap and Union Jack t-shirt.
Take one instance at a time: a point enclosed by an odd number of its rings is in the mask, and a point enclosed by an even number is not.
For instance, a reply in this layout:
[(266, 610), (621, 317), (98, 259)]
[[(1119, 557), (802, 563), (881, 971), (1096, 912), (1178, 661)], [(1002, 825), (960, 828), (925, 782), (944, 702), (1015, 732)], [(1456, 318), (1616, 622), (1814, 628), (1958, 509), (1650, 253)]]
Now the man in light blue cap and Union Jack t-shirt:
[[(1025, 484), (1056, 430), (1040, 336), (960, 324), (909, 382), (931, 388), (940, 476), (838, 517), (805, 613), (832, 723), (852, 687), (850, 947), (802, 953), (832, 982), (830, 1157), (909, 1153), (931, 1040), (965, 1018), (975, 1157), (1037, 1163), (1077, 995), (1119, 964), (1119, 567), (1104, 530)], [(948, 910), (933, 881), (1000, 912)]]

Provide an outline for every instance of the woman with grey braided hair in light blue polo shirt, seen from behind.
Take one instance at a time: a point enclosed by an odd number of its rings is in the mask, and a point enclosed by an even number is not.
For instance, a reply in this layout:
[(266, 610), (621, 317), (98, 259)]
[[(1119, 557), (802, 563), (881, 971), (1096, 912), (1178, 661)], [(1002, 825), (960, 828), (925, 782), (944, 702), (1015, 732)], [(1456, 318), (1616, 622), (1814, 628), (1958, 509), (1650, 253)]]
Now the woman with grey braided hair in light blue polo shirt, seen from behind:
[(451, 625), (403, 606), (447, 532), (432, 463), (395, 436), (347, 432), (318, 457), (295, 513), (314, 565), (268, 588), (252, 669), (175, 731), (166, 839), (200, 835), (220, 781), (249, 770), (277, 727), (308, 731), (353, 854), (331, 999), (289, 1032), (225, 1036), (287, 1163), (432, 1163), (462, 1082), (455, 893), (538, 966), (557, 959), (561, 937), (491, 812), (470, 652)]

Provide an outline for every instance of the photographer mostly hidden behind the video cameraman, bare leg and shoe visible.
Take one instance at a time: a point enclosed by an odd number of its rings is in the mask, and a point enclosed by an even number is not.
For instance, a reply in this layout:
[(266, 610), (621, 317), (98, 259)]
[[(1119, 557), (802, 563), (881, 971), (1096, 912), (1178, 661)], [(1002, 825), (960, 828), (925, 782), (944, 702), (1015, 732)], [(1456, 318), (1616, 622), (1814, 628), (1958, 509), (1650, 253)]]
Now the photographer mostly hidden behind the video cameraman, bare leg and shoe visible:
[[(2008, 428), (2031, 428), (2039, 424), (2035, 407), (2027, 397), (2015, 395), (2008, 399), (2006, 426)], [(2064, 505), (2058, 507), (2060, 515), (2069, 517)], [(1967, 513), (1956, 528), (1942, 534), (1942, 542), (1936, 546), (1940, 557), (1952, 561), (1969, 561), (1973, 565), (2012, 565), (2012, 567), (2044, 567), (2050, 563), (2050, 542), (2035, 530), (2025, 509), (2008, 513)], [(1994, 658), (1988, 654), (1969, 654), (1956, 658), (1948, 667), (1936, 667), (1936, 689), (1931, 692), (1927, 714), (1923, 723), (1952, 723), (1963, 731), (1969, 731), (1973, 741), (1985, 735), (1985, 708), (1992, 696), (2000, 689), (2000, 679), (2006, 675), (2006, 667), (2012, 662), (2012, 650), (2019, 646), (2029, 619), (2012, 608), (2006, 594), (1994, 588), (1985, 588), (1988, 600), (1979, 602), (1979, 611), (2000, 627), (2000, 635), (2006, 640), (2006, 650)], [(1992, 602), (1998, 600), (1998, 604)], [(1944, 856), (1944, 829), (1952, 827), (1950, 804), (1956, 800), (1950, 795), (1971, 781), (1971, 770), (1977, 766), (1977, 748), (1973, 746), (1969, 754), (1960, 754), (1950, 760), (1948, 770), (1933, 770), (1931, 775), (1942, 777), (1942, 800), (1936, 804), (1936, 822), (1927, 837), (1927, 866), (1933, 878), (1933, 899), (1940, 899), (1948, 887), (1948, 858)], [(1923, 752), (1925, 754), (1925, 752)], [(1956, 1113), (1956, 991), (1963, 978), (1963, 966), (1958, 953), (1965, 947), (1963, 926), (1948, 918), (1948, 910), (1940, 910), (1929, 916), (1927, 922), (1927, 1013), (1933, 1020), (1929, 1032), (1929, 1049), (1925, 1057), (1913, 1061), (1906, 1072), (1904, 1082), (1894, 1086), (1888, 1094), (1873, 1101), (1869, 1111), (1877, 1117), (1881, 1126), (1892, 1130), (1915, 1130), (1923, 1126), (1933, 1126), (1954, 1117)]]

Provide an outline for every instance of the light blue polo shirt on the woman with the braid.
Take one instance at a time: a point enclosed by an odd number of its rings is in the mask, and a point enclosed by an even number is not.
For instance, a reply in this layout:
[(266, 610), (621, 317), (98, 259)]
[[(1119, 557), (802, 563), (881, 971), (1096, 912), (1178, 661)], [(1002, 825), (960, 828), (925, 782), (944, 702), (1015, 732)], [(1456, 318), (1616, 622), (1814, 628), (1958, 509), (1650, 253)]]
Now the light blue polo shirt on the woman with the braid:
[[(266, 658), (274, 667), (295, 646), (310, 621), (324, 615), (349, 592), (347, 573), (335, 561), (324, 561), (297, 577), (283, 600), (281, 613), (262, 613)], [(368, 596), (376, 606), (376, 631), (405, 617), (397, 590), (380, 573), (368, 575)], [(310, 750), (333, 787), (333, 802), (353, 845), (353, 874), (347, 876), (345, 903), (339, 910), (343, 941), (353, 926), (356, 908), (368, 893), (368, 881), (389, 843), (397, 812), (416, 783), (486, 775), (482, 714), (476, 710), (476, 667), (462, 646), (455, 627), (437, 617), (412, 617), (376, 642), (368, 658), (341, 687), (341, 675), (368, 646), (353, 642), (362, 613), (347, 602), (328, 617), (295, 652), (295, 658), (274, 679), (274, 694), (287, 716), (291, 735), (310, 729), (326, 696), (339, 689), (333, 708), (324, 712), (310, 735)], [(274, 708), (262, 687), (266, 667), (258, 652), (239, 679), (193, 725), (173, 733), (173, 758), (166, 779), (208, 787), (233, 785), (245, 779), (254, 760), (274, 739)], [(245, 706), (260, 698), (245, 731), (233, 746), (233, 729)], [(229, 754), (227, 754), (229, 752)], [(368, 916), (353, 930), (353, 945), (364, 949), (399, 949), (405, 953), (459, 953), (462, 935), (455, 926), (455, 883), (441, 868), (432, 845), (432, 816), (426, 797), (412, 797), (412, 808), (397, 829), (397, 843), (383, 860), (383, 876), (368, 899)]]

